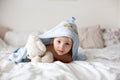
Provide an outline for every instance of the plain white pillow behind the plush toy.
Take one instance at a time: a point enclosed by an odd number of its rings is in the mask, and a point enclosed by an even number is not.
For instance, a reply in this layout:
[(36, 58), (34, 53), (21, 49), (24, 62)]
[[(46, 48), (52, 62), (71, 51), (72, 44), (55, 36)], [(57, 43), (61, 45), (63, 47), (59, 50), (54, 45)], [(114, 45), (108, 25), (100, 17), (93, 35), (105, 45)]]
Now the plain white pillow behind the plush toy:
[(15, 32), (15, 31), (9, 31), (5, 35), (5, 42), (8, 45), (14, 46), (14, 47), (23, 47), (25, 46), (28, 36), (30, 34), (38, 35), (39, 32)]

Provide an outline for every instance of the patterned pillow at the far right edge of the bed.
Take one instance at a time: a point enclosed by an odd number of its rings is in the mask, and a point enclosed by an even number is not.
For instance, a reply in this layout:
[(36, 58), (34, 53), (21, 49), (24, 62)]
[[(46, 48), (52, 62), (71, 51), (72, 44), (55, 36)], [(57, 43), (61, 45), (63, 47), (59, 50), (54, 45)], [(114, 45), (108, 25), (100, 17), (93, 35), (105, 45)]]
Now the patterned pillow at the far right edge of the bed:
[(103, 39), (105, 46), (112, 46), (120, 43), (120, 28), (104, 28)]

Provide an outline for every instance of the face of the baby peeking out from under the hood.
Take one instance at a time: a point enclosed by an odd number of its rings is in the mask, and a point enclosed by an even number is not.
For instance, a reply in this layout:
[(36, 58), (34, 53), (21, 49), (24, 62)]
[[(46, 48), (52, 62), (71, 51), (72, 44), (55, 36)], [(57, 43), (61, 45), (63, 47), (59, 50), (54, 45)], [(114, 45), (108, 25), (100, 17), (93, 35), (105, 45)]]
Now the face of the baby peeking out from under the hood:
[(71, 50), (72, 40), (68, 37), (57, 37), (53, 40), (53, 46), (58, 55), (64, 55)]

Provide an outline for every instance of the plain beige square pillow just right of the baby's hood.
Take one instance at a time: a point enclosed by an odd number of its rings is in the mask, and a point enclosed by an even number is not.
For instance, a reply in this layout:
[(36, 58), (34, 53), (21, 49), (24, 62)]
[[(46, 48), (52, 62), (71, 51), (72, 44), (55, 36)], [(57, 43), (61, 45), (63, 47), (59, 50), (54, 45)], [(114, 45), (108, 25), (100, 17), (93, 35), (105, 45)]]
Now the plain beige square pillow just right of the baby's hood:
[(104, 41), (99, 25), (78, 29), (81, 48), (103, 48)]

